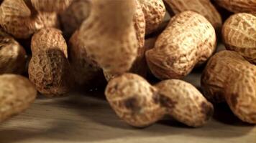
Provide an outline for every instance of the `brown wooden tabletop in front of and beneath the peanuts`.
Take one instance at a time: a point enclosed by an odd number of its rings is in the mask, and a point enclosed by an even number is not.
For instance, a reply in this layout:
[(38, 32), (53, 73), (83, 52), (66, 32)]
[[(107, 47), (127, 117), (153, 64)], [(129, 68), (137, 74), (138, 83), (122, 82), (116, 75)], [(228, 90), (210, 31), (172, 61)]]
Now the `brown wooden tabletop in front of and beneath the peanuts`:
[[(200, 87), (200, 70), (184, 80)], [(256, 127), (245, 124), (226, 104), (215, 107), (213, 119), (190, 128), (169, 117), (145, 129), (122, 122), (103, 92), (73, 93), (47, 99), (39, 96), (26, 112), (0, 125), (0, 143), (256, 143)]]

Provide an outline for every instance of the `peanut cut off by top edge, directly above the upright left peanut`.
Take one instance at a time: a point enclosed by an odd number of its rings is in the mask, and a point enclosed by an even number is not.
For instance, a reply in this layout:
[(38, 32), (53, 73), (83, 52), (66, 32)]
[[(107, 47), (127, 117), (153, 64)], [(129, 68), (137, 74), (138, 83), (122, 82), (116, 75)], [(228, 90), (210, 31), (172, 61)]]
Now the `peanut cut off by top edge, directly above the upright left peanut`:
[(73, 0), (31, 0), (37, 11), (61, 12), (68, 8)]

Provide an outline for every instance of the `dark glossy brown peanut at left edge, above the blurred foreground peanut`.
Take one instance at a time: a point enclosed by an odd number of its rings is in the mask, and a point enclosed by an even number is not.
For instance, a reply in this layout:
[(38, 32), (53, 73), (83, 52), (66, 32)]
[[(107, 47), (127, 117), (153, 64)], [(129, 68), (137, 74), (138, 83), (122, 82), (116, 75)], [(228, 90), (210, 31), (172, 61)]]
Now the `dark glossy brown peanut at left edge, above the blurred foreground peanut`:
[(22, 74), (26, 61), (24, 48), (0, 28), (0, 74)]

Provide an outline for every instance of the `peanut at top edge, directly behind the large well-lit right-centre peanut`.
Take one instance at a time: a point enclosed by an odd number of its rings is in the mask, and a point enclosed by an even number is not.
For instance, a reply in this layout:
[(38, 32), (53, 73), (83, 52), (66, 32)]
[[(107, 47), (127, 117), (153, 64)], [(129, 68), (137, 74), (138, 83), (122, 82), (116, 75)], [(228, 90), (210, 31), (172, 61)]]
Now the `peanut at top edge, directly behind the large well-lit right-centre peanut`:
[(215, 29), (220, 29), (222, 20), (219, 12), (210, 0), (165, 0), (173, 9), (174, 14), (183, 11), (195, 11), (208, 19)]

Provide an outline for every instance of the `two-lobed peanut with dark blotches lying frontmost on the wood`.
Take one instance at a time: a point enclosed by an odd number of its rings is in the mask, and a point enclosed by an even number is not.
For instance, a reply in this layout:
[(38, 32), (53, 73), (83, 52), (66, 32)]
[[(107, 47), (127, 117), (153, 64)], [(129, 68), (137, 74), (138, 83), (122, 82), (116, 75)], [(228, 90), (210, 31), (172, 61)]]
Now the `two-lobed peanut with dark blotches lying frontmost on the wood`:
[(191, 127), (206, 124), (214, 108), (191, 84), (172, 79), (150, 85), (136, 74), (111, 79), (106, 99), (116, 114), (134, 127), (146, 127), (169, 114)]

